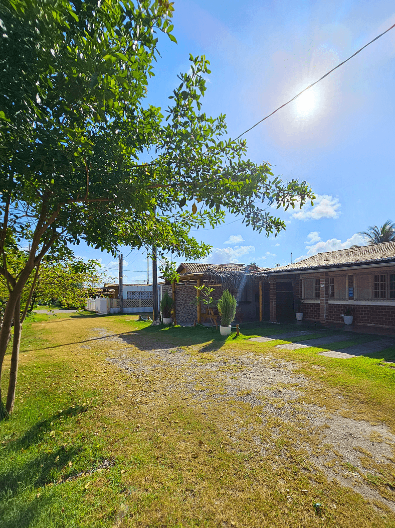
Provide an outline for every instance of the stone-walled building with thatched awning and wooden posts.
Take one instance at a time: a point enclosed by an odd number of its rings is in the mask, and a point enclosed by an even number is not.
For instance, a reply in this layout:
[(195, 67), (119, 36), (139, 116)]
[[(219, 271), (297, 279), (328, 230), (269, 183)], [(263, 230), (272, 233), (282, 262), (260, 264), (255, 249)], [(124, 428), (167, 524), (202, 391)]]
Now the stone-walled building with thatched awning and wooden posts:
[(213, 288), (214, 303), (228, 289), (238, 301), (238, 314), (243, 320), (269, 319), (269, 288), (264, 285), (265, 277), (260, 274), (268, 268), (244, 264), (205, 264), (200, 262), (182, 263), (177, 268), (180, 281), (173, 285), (165, 283), (167, 290), (175, 298), (176, 320), (181, 323), (201, 323), (205, 305), (194, 304), (197, 291), (195, 286)]

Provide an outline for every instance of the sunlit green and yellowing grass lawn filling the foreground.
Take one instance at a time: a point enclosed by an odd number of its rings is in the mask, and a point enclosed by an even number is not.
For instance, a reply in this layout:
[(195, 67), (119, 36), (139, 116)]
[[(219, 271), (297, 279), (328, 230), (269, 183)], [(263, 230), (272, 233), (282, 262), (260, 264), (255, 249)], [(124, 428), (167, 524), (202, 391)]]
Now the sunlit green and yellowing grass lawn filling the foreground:
[(26, 323), (2, 528), (395, 527), (393, 347), (340, 360), (248, 341), (293, 325), (224, 340), (135, 319)]

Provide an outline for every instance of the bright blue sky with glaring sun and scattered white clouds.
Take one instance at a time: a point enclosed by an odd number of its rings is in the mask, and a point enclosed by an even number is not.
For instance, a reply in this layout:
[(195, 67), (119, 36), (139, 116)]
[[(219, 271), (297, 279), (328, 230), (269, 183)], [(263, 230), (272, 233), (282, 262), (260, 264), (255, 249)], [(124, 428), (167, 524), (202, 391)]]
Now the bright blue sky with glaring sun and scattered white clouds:
[[(202, 110), (226, 114), (236, 137), (395, 23), (393, 2), (175, 0), (178, 44), (160, 37), (162, 59), (147, 102), (165, 108), (189, 54), (212, 74)], [(395, 221), (395, 29), (245, 135), (248, 156), (284, 180), (306, 180), (314, 207), (278, 211), (287, 230), (266, 238), (228, 215), (193, 234), (213, 246), (213, 263), (285, 265), (319, 251), (362, 244), (359, 231)], [(235, 221), (236, 220), (236, 221)], [(122, 248), (124, 281), (146, 280), (144, 251)], [(81, 244), (76, 253), (117, 268), (111, 255)], [(178, 262), (183, 261), (179, 259)], [(130, 270), (130, 271), (129, 271)], [(117, 277), (117, 269), (106, 270)], [(151, 280), (151, 273), (150, 273)]]

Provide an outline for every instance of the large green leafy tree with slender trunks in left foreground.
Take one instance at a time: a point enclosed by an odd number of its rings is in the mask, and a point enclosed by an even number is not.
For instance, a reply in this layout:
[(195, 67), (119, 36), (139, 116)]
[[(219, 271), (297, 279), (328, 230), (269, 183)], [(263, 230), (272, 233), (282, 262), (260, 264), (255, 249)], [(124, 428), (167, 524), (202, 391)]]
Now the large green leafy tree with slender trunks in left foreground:
[[(277, 233), (284, 223), (266, 205), (313, 197), (305, 182), (283, 183), (268, 163), (245, 159), (245, 142), (226, 139), (224, 116), (201, 112), (204, 57), (180, 75), (166, 120), (143, 107), (156, 32), (175, 40), (172, 12), (166, 0), (0, 5), (0, 274), (9, 292), (0, 367), (22, 292), (54, 244), (200, 258), (210, 247), (189, 232), (218, 224), (224, 210)], [(11, 234), (31, 244), (18, 272)]]

